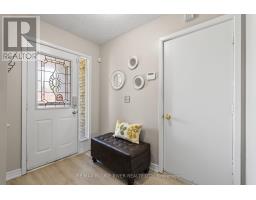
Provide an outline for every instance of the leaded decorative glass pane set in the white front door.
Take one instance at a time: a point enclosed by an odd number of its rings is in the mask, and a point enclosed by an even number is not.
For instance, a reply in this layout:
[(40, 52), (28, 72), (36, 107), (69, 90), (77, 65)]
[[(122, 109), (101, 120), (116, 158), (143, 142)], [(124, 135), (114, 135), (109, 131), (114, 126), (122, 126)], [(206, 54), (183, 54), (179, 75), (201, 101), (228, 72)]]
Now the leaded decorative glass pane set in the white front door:
[(71, 106), (71, 61), (38, 54), (37, 107)]

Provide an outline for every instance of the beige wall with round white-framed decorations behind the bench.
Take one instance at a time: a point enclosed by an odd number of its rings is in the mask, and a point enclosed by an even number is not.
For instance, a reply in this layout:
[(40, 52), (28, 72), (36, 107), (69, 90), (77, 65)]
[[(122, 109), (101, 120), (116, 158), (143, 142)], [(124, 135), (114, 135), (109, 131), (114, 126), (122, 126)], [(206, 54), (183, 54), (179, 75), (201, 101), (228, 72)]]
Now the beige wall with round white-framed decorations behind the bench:
[[(161, 37), (213, 17), (216, 15), (199, 15), (191, 23), (185, 23), (183, 15), (164, 15), (101, 46), (101, 132), (112, 131), (117, 119), (142, 123), (142, 140), (151, 144), (152, 162), (158, 163), (159, 79), (146, 82), (143, 90), (137, 91), (132, 86), (132, 77), (159, 71)], [(127, 63), (133, 55), (138, 56), (140, 64), (131, 71)], [(118, 69), (125, 72), (126, 84), (120, 91), (114, 91), (109, 80), (111, 73)], [(123, 103), (124, 95), (131, 96), (130, 104)]]

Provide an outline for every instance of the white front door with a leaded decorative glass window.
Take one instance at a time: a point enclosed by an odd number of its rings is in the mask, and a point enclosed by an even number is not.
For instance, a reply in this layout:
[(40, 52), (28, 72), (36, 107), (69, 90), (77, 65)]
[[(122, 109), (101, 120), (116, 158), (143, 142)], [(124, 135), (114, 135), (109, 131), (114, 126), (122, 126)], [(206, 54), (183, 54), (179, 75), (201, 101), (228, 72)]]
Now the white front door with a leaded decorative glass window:
[(77, 56), (40, 45), (27, 65), (27, 169), (77, 153)]

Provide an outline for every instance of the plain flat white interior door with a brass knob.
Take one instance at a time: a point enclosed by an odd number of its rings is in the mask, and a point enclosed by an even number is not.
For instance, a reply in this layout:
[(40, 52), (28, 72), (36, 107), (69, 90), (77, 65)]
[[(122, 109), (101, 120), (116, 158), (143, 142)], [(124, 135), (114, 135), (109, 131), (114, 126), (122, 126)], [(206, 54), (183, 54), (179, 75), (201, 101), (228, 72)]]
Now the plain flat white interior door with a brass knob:
[(164, 169), (232, 184), (233, 21), (164, 43)]

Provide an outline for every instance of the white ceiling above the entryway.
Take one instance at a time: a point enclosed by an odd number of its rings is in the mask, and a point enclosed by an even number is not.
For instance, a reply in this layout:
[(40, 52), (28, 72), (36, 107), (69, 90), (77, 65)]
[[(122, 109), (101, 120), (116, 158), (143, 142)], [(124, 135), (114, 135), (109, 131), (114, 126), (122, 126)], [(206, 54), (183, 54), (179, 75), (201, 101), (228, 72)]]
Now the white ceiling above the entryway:
[(160, 15), (40, 15), (41, 20), (97, 44), (103, 44)]

